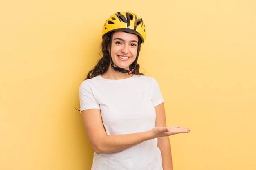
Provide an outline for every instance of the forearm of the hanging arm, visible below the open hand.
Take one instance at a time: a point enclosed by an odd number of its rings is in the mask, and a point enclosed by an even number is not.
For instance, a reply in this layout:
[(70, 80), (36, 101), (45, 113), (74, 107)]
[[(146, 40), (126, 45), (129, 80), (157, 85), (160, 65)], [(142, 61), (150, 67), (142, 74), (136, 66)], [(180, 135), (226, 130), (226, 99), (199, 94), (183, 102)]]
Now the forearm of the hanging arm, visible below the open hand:
[(159, 137), (157, 146), (161, 150), (163, 169), (173, 170), (173, 162), (172, 162), (169, 137)]

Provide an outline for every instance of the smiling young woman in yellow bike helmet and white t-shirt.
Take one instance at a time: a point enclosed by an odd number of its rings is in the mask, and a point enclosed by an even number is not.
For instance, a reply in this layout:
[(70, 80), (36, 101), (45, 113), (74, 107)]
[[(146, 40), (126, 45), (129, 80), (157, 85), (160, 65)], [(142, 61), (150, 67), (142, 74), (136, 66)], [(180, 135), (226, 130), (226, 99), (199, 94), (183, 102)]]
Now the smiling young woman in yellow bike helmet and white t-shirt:
[(166, 126), (157, 81), (139, 73), (145, 25), (117, 12), (103, 26), (103, 57), (79, 87), (83, 125), (94, 150), (92, 170), (172, 170), (168, 136), (188, 128)]

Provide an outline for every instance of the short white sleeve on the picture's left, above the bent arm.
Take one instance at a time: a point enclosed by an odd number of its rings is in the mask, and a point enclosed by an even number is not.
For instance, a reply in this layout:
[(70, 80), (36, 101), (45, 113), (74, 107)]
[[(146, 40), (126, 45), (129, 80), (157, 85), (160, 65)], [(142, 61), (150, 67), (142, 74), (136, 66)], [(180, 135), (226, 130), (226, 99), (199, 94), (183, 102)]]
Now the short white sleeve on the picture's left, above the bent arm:
[(97, 103), (92, 89), (90, 86), (83, 81), (79, 87), (79, 100), (80, 100), (80, 113), (83, 110), (87, 109), (100, 109), (99, 104)]

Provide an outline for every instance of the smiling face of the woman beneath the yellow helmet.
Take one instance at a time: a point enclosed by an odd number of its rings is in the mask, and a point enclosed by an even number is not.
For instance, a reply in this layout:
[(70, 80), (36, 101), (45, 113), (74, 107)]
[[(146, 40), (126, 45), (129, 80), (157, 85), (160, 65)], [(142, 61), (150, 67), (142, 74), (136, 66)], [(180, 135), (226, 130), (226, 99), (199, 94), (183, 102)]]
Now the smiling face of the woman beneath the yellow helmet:
[(116, 66), (129, 70), (138, 49), (138, 36), (124, 31), (115, 31), (112, 37), (111, 57)]

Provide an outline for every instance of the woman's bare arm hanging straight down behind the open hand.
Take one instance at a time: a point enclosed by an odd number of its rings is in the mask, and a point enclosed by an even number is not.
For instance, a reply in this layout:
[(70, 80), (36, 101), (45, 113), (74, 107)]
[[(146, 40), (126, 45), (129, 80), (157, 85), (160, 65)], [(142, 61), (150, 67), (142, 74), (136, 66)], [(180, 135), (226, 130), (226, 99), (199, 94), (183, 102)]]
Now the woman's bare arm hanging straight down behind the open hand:
[[(156, 119), (155, 127), (166, 127), (166, 118), (164, 111), (164, 103), (155, 106)], [(161, 150), (162, 166), (164, 170), (173, 170), (173, 162), (171, 155), (171, 146), (169, 137), (158, 137), (157, 146)]]

